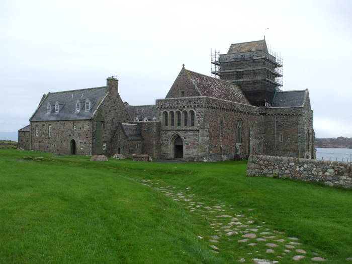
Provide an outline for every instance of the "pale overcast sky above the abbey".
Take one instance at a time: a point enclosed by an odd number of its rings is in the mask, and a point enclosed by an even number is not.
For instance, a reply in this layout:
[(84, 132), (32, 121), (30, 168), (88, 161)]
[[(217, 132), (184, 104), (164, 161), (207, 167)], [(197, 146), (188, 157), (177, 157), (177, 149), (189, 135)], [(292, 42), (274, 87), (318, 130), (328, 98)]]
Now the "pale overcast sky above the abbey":
[[(185, 64), (260, 40), (284, 91), (309, 89), (316, 137), (352, 137), (352, 1), (0, 1), (0, 131), (29, 124), (48, 92), (105, 86), (130, 105), (164, 98)], [(268, 30), (265, 30), (269, 28)]]

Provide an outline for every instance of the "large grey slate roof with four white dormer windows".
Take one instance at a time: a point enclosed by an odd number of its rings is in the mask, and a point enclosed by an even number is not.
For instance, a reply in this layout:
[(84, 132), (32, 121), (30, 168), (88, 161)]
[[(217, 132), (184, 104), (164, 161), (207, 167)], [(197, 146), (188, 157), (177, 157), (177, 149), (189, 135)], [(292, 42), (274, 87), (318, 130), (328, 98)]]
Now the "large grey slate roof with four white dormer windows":
[[(94, 111), (106, 95), (106, 86), (89, 89), (48, 93), (47, 97), (40, 104), (30, 121), (54, 121), (54, 120), (86, 120), (92, 119)], [(86, 99), (91, 101), (91, 110), (85, 111), (84, 102)], [(54, 109), (47, 113), (47, 105), (60, 104), (59, 112)], [(76, 103), (82, 103), (80, 111), (76, 111)]]

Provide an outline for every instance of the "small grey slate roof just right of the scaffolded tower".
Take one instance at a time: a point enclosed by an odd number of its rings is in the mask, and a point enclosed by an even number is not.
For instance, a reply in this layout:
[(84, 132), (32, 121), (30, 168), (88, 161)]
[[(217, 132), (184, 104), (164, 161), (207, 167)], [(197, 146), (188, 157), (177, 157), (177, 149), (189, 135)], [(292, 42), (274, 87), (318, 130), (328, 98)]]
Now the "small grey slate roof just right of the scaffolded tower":
[(302, 107), (306, 90), (275, 93), (272, 107)]

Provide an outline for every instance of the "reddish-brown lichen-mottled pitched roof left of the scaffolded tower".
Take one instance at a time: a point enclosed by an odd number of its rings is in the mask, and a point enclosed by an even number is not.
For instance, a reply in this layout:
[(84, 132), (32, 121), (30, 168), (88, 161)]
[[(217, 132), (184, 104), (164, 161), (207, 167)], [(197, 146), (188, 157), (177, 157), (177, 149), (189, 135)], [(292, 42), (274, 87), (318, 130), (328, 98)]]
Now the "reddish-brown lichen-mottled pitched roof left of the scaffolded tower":
[(187, 76), (196, 86), (201, 96), (250, 105), (237, 84), (183, 69), (186, 70)]

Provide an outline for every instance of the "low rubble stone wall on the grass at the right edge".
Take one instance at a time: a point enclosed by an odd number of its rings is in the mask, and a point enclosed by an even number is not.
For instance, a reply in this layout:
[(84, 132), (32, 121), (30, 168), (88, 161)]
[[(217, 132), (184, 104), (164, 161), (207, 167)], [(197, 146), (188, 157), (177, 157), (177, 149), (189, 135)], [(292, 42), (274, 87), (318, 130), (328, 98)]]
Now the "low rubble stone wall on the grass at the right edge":
[(352, 188), (352, 164), (350, 162), (250, 155), (247, 176), (288, 178)]

